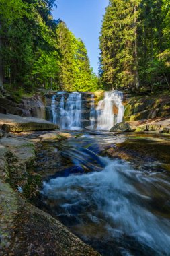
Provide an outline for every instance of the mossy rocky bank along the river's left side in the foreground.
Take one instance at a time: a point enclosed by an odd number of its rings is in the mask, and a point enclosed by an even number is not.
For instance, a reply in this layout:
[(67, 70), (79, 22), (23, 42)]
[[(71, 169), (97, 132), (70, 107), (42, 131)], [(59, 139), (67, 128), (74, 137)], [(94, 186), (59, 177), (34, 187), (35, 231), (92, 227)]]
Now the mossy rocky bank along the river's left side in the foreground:
[(56, 143), (69, 137), (69, 133), (56, 130), (3, 133), (0, 255), (99, 255), (56, 218), (36, 207), (42, 186), (42, 176), (36, 172), (36, 148), (49, 139)]

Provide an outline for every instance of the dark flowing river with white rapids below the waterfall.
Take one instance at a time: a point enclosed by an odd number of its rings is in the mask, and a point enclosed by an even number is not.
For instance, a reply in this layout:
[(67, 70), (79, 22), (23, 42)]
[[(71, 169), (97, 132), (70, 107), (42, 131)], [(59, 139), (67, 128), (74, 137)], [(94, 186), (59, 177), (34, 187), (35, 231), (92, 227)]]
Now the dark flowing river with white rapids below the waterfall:
[(170, 255), (169, 137), (71, 133), (53, 143), (63, 166), (43, 207), (101, 255)]

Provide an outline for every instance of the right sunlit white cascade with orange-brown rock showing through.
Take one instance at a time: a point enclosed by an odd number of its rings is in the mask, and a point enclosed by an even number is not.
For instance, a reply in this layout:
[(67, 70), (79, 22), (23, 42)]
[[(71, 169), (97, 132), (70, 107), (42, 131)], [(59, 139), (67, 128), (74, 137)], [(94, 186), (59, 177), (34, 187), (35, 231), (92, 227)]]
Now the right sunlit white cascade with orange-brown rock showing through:
[(105, 92), (104, 99), (99, 101), (96, 109), (98, 130), (108, 130), (116, 123), (122, 122), (124, 117), (122, 100), (122, 92)]

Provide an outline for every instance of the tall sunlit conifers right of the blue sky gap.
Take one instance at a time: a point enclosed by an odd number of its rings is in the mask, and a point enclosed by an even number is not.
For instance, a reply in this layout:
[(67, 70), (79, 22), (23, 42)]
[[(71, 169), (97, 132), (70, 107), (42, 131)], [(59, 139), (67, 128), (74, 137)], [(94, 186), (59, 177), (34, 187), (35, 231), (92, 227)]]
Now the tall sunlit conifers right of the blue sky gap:
[(110, 0), (100, 36), (106, 88), (170, 84), (170, 1)]

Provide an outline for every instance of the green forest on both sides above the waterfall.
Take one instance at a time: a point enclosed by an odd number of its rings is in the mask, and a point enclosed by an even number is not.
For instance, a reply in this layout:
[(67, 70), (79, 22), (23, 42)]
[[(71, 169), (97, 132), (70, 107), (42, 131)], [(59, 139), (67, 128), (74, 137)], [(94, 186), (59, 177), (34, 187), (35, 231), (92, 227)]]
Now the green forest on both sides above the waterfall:
[(32, 91), (170, 86), (169, 0), (110, 0), (99, 75), (81, 38), (54, 20), (55, 0), (0, 0), (0, 84)]

